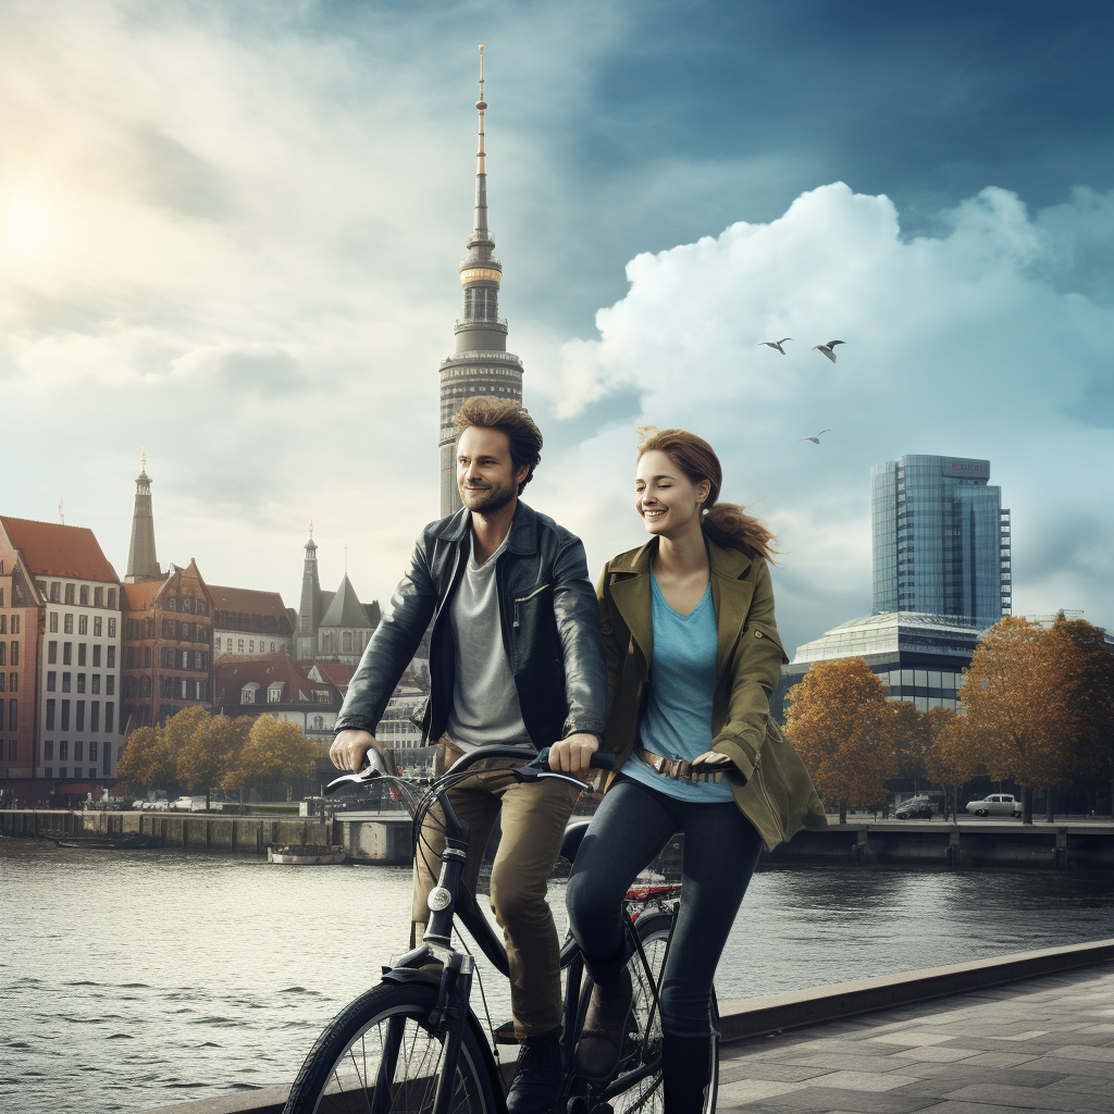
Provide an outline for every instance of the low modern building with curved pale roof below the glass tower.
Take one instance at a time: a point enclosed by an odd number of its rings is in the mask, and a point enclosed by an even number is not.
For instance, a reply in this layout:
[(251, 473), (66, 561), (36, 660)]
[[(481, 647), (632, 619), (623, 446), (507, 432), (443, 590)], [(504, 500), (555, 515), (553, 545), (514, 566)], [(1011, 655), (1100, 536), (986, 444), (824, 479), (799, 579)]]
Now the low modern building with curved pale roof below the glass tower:
[(770, 697), (770, 711), (785, 721), (785, 697), (817, 662), (861, 657), (886, 685), (890, 700), (906, 700), (921, 712), (957, 709), (964, 673), (979, 635), (990, 624), (952, 615), (888, 612), (841, 623), (819, 638), (797, 647), (797, 656), (781, 670)]

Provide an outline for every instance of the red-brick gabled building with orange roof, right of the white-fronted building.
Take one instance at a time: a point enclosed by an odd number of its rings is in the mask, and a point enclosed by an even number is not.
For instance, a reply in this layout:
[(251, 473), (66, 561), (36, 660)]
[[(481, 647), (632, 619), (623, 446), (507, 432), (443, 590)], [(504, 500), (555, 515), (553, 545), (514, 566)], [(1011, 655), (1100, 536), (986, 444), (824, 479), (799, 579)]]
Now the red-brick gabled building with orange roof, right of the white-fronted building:
[(124, 586), (125, 730), (157, 724), (213, 696), (213, 600), (190, 558), (160, 580)]

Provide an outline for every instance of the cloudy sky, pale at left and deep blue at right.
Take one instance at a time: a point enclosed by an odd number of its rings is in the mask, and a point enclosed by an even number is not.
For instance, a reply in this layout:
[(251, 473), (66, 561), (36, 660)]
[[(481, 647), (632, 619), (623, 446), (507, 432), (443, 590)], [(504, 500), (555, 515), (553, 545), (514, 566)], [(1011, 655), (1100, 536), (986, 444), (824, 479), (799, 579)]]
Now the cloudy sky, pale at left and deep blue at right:
[(123, 577), (146, 449), (164, 567), (296, 607), (312, 518), (385, 603), (439, 512), (480, 42), (527, 501), (593, 577), (645, 537), (634, 428), (684, 426), (780, 538), (791, 654), (870, 612), (902, 453), (991, 461), (1015, 613), (1114, 625), (1105, 2), (0, 0), (0, 512), (63, 498)]

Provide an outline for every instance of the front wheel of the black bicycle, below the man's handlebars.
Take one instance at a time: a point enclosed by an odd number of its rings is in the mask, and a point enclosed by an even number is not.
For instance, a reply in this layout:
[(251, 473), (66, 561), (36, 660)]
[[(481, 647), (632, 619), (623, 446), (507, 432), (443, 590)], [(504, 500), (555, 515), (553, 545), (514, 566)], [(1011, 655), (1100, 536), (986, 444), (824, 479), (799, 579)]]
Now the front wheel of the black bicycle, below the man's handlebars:
[[(283, 1114), (429, 1114), (444, 1051), (443, 1032), (429, 1027), (436, 1003), (437, 989), (420, 983), (382, 983), (350, 1003), (310, 1049)], [(486, 1049), (469, 1022), (449, 1114), (496, 1114)], [(381, 1077), (389, 1102), (375, 1098)]]

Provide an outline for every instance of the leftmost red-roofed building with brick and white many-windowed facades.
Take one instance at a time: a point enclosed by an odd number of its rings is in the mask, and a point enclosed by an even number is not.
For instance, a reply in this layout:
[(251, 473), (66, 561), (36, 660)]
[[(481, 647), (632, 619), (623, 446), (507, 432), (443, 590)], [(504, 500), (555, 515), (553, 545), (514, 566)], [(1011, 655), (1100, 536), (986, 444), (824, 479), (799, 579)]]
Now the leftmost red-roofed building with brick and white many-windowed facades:
[(38, 782), (17, 797), (115, 781), (119, 594), (92, 530), (0, 518), (0, 776)]

